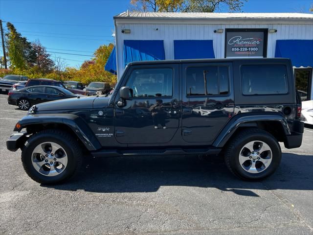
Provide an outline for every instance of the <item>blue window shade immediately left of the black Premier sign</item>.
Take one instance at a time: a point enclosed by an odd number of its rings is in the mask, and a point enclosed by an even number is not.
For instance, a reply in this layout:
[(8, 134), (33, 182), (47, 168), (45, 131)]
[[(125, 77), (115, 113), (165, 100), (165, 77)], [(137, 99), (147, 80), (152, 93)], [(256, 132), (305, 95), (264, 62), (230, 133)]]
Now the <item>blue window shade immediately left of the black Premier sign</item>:
[(174, 40), (175, 59), (215, 58), (212, 40)]

